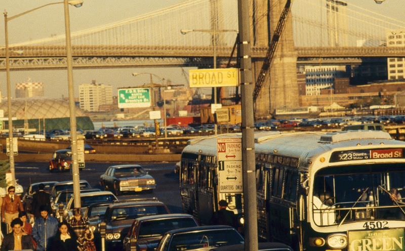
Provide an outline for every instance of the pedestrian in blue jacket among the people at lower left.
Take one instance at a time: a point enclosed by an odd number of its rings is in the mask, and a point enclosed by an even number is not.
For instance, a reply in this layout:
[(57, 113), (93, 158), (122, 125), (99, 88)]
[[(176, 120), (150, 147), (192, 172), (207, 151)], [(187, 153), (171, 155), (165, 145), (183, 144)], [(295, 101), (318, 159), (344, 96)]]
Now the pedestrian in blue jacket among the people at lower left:
[(39, 212), (41, 217), (35, 219), (32, 237), (37, 244), (37, 251), (47, 251), (51, 237), (58, 231), (58, 220), (49, 215), (47, 206), (39, 207)]

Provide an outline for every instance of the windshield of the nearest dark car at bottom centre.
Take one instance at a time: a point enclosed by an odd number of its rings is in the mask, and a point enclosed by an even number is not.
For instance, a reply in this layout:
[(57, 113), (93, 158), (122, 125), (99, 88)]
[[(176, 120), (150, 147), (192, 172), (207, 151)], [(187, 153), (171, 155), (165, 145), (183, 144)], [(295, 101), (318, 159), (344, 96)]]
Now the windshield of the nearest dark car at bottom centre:
[(234, 229), (218, 229), (175, 234), (169, 251), (218, 247), (243, 243), (244, 239)]

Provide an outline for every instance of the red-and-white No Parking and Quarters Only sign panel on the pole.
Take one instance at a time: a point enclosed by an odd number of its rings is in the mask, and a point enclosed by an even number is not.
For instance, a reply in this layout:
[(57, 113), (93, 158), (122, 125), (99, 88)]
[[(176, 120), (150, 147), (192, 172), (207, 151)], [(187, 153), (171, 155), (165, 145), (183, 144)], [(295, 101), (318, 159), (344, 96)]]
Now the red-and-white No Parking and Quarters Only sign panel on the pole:
[(218, 181), (220, 193), (241, 193), (242, 139), (218, 138)]

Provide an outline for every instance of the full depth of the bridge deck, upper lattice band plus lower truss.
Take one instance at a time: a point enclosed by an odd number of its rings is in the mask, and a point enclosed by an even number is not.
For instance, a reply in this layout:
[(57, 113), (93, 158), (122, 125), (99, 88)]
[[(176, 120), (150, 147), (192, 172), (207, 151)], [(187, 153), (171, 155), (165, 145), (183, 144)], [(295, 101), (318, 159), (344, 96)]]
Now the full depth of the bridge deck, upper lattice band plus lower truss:
[[(266, 56), (266, 47), (252, 48), (253, 60)], [(235, 53), (234, 53), (235, 54)], [(217, 49), (218, 65), (227, 65), (230, 47)], [(297, 48), (298, 65), (361, 64), (365, 58), (404, 57), (405, 47), (347, 47)], [(0, 49), (0, 71), (6, 68), (4, 48)], [(212, 67), (213, 49), (210, 47), (180, 46), (73, 46), (73, 67)], [(235, 65), (235, 55), (231, 65)], [(64, 46), (31, 46), (11, 48), (12, 70), (66, 68)]]

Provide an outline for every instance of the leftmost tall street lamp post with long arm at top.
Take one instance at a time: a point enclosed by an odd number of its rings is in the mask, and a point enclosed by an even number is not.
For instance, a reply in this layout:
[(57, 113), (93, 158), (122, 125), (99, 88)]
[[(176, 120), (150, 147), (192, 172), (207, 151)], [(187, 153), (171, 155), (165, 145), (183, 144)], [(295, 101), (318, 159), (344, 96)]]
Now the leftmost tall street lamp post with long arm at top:
[[(8, 22), (16, 19), (18, 17), (21, 17), (25, 14), (31, 13), (33, 11), (36, 11), (38, 9), (42, 9), (44, 7), (50, 6), (50, 5), (57, 5), (57, 4), (69, 4), (73, 5), (74, 7), (80, 7), (83, 5), (84, 0), (64, 0), (64, 2), (55, 2), (55, 3), (49, 3), (46, 5), (42, 5), (39, 7), (36, 7), (34, 9), (24, 11), (20, 14), (8, 17), (7, 11), (5, 11), (4, 14), (4, 32), (5, 32), (5, 51), (6, 51), (6, 82), (7, 82), (7, 107), (8, 107), (8, 119), (9, 119), (9, 164), (10, 164), (10, 172), (11, 172), (11, 179), (13, 185), (16, 184), (16, 175), (15, 175), (15, 168), (14, 168), (14, 151), (13, 151), (13, 120), (12, 120), (12, 114), (11, 114), (11, 81), (10, 81), (10, 52), (9, 52), (9, 28), (8, 28)], [(70, 32), (69, 32), (69, 38), (70, 38)], [(72, 148), (73, 149), (73, 148)], [(76, 155), (77, 156), (77, 155)], [(76, 161), (77, 162), (77, 161)], [(80, 202), (79, 202), (80, 203)]]

